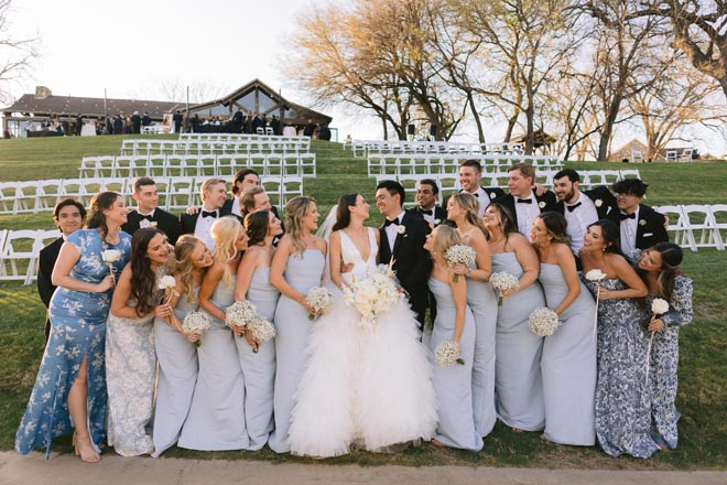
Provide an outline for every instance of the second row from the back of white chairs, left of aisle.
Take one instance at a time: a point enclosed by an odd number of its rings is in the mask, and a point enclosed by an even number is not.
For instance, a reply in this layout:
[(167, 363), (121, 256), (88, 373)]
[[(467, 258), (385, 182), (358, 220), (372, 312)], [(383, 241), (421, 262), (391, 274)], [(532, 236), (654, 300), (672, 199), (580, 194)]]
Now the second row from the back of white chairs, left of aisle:
[(79, 176), (231, 176), (240, 169), (262, 175), (316, 175), (316, 154), (257, 153), (209, 155), (100, 155), (84, 157)]

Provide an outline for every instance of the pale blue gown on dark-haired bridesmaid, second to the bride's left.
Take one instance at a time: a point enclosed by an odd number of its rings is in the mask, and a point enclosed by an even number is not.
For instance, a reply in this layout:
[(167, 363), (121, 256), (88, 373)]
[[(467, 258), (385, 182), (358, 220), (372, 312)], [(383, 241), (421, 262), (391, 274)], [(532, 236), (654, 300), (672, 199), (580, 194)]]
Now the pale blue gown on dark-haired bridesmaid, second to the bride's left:
[[(256, 269), (246, 299), (271, 323), (279, 297), (280, 292), (270, 284), (270, 268)], [(265, 445), (273, 430), (275, 341), (260, 344), (257, 354), (246, 338), (236, 337), (235, 342), (245, 380), (245, 421), (250, 438), (247, 450), (257, 451)]]

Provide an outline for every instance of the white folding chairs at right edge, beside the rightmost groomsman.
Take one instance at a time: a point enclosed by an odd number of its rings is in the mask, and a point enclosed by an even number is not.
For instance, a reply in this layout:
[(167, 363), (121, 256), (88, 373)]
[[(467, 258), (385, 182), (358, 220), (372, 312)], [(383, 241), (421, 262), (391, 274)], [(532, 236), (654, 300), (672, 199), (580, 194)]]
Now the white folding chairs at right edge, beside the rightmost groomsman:
[(669, 216), (672, 240), (696, 251), (697, 248), (725, 250), (727, 245), (727, 204), (661, 205), (654, 207)]

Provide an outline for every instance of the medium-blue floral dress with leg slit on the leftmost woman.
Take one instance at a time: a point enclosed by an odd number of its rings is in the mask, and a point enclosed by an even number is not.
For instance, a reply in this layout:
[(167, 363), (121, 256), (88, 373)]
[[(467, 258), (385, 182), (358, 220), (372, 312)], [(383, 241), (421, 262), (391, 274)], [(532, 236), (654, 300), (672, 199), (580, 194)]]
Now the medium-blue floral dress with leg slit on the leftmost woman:
[[(97, 284), (109, 273), (101, 259), (106, 249), (121, 252), (113, 263), (116, 273), (129, 260), (131, 236), (119, 231), (120, 241), (106, 244), (97, 229), (76, 230), (67, 244), (80, 258), (70, 277)], [(88, 424), (91, 442), (98, 446), (105, 438), (106, 423), (106, 319), (111, 305), (111, 290), (89, 293), (58, 287), (51, 299), (51, 336), (37, 371), (25, 414), (15, 433), (18, 453), (30, 453), (36, 446), (51, 453), (51, 440), (73, 430), (68, 414), (68, 391), (76, 380), (84, 357), (88, 355)], [(97, 450), (98, 451), (98, 450)]]

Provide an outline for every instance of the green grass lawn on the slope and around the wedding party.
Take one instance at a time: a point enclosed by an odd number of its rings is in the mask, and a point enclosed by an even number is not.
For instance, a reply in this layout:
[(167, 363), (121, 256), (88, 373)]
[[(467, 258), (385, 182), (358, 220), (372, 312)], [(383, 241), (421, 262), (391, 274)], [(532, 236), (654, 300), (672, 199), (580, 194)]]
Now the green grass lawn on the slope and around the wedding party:
[[(122, 137), (31, 139), (0, 141), (0, 181), (75, 177), (83, 155), (118, 153)], [(338, 143), (313, 142), (318, 176), (305, 181), (305, 192), (316, 197), (322, 214), (341, 193), (360, 192), (372, 198), (375, 183), (366, 177), (366, 160), (352, 159)], [(614, 163), (567, 163), (580, 170), (617, 169)], [(632, 168), (629, 165), (628, 168)], [(638, 165), (650, 183), (648, 203), (727, 203), (727, 163), (652, 163)], [(372, 211), (373, 213), (373, 211)], [(378, 224), (377, 214), (371, 224)], [(50, 213), (0, 216), (0, 228), (52, 228)], [(315, 463), (361, 465), (482, 465), (546, 468), (726, 470), (727, 468), (727, 309), (724, 271), (726, 254), (714, 249), (687, 251), (684, 271), (694, 279), (694, 322), (682, 330), (677, 408), (680, 448), (650, 460), (612, 459), (597, 446), (576, 448), (544, 442), (539, 433), (514, 433), (498, 424), (480, 453), (436, 449), (428, 444), (397, 454), (352, 452)], [(0, 283), (0, 450), (13, 445), (43, 354), (45, 309), (35, 287)], [(69, 451), (69, 439), (54, 442), (54, 450)], [(165, 456), (225, 460), (264, 460), (274, 463), (311, 463), (306, 459), (260, 452), (202, 453), (172, 449)]]

